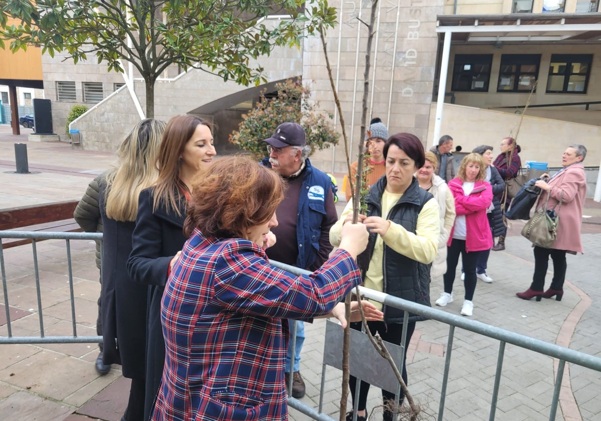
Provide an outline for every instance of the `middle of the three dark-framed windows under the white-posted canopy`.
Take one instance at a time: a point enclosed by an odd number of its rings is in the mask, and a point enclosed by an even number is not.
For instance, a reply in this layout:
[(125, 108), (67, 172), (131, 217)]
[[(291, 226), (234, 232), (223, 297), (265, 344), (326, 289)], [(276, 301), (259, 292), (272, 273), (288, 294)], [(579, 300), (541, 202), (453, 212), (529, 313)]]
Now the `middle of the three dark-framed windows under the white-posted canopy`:
[(503, 54), (497, 92), (529, 92), (538, 77), (540, 54)]

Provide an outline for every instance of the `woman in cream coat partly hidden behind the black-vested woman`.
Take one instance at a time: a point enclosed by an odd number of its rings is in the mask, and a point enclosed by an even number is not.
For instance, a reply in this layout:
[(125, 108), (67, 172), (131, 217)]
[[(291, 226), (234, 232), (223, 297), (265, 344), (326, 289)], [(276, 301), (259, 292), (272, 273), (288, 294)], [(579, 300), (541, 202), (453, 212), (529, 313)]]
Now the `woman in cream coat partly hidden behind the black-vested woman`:
[(455, 221), (455, 199), (445, 180), (435, 174), (436, 168), (438, 168), (438, 159), (435, 153), (428, 151), (425, 155), (426, 162), (417, 170), (415, 177), (419, 187), (432, 193), (438, 202), (441, 233), (438, 238), (438, 254), (436, 254), (436, 258), (432, 262), (432, 269), (430, 269), (430, 278), (435, 278), (447, 271), (447, 241)]

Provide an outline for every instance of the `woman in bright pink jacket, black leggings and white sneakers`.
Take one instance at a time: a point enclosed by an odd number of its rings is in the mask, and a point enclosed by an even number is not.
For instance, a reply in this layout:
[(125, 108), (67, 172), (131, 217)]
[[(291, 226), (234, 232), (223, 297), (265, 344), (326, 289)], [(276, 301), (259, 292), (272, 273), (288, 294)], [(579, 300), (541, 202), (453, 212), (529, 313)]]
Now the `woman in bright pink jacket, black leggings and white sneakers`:
[(465, 299), (461, 307), (463, 316), (471, 316), (474, 312), (472, 298), (476, 289), (478, 256), (493, 244), (486, 215), (492, 203), (492, 187), (484, 181), (484, 177), (486, 164), (482, 155), (470, 153), (461, 161), (457, 178), (448, 182), (455, 198), (457, 217), (447, 243), (447, 272), (443, 277), (445, 290), (436, 300), (436, 306), (444, 307), (453, 302), (453, 282), (461, 254), (465, 271)]

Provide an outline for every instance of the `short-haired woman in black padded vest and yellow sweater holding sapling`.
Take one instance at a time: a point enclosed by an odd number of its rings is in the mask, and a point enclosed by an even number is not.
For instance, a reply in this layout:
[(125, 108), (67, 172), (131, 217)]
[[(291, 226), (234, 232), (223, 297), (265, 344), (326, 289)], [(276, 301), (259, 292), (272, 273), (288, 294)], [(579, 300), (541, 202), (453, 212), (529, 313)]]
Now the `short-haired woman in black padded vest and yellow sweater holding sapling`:
[[(367, 215), (359, 215), (358, 221), (370, 231), (367, 249), (357, 258), (366, 287), (376, 289), (403, 300), (430, 306), (430, 263), (438, 252), (440, 217), (438, 202), (419, 187), (413, 174), (423, 167), (426, 158), (424, 147), (415, 135), (398, 133), (384, 144), (385, 176), (371, 186), (365, 201)], [(344, 208), (337, 223), (330, 229), (330, 241), (340, 244), (340, 232), (345, 223), (352, 221), (353, 203)], [(374, 303), (376, 307), (382, 306)], [(368, 322), (372, 333), (383, 340), (401, 344), (404, 312), (394, 307), (383, 307), (384, 317)], [(415, 322), (423, 316), (409, 314), (405, 349), (409, 345)], [(361, 323), (351, 328), (361, 330)], [(405, 354), (406, 358), (406, 354)], [(407, 370), (403, 361), (400, 367), (407, 383)], [(359, 396), (355, 396), (356, 378), (350, 376), (350, 392), (353, 404), (358, 399), (357, 420), (367, 420), (367, 393), (370, 384), (361, 381)], [(401, 392), (402, 393), (402, 392)], [(382, 399), (394, 406), (394, 391), (382, 390)], [(400, 402), (403, 396), (400, 396)], [(392, 421), (394, 411), (387, 406), (384, 421)], [(352, 420), (353, 412), (346, 419)]]

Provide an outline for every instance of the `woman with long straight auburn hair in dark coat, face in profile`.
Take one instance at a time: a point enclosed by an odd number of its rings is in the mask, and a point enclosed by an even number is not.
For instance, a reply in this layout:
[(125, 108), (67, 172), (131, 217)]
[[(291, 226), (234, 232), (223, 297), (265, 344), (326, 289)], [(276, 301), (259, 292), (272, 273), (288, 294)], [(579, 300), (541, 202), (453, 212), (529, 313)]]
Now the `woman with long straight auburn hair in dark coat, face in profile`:
[(187, 239), (183, 234), (186, 201), (194, 180), (215, 155), (206, 122), (194, 115), (171, 118), (160, 146), (157, 182), (139, 196), (127, 271), (132, 280), (148, 289), (145, 420), (151, 416), (163, 374), (165, 340), (160, 302), (171, 266)]

